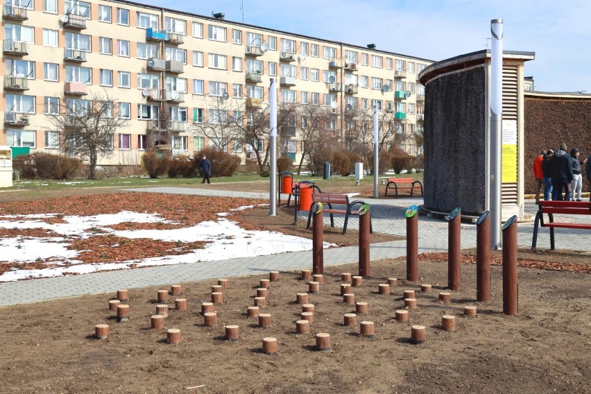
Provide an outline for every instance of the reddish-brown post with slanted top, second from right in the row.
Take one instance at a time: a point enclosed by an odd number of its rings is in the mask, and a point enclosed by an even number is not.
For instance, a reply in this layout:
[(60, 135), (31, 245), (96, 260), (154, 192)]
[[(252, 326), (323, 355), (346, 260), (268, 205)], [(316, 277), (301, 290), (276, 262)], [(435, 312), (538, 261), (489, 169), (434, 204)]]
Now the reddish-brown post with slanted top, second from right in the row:
[(490, 300), (490, 216), (488, 211), (476, 221), (476, 300)]

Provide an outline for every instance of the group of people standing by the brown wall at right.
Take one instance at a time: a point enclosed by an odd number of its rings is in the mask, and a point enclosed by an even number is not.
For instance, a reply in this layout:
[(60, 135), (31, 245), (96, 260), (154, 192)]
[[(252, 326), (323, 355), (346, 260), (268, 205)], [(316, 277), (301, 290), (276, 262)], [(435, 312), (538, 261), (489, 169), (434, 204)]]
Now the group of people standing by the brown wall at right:
[(583, 165), (591, 185), (591, 155), (582, 162), (580, 156), (579, 148), (572, 148), (570, 153), (567, 153), (567, 145), (563, 142), (556, 151), (552, 149), (542, 151), (533, 160), (533, 174), (536, 175), (536, 204), (540, 201), (542, 185), (544, 200), (550, 200), (551, 197), (555, 201), (581, 201)]

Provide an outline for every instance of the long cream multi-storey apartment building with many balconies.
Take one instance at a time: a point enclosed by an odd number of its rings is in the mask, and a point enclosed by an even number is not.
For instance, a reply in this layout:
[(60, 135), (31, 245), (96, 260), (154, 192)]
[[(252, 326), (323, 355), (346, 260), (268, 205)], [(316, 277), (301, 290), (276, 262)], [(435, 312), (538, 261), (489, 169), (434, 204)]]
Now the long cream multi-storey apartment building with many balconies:
[[(252, 160), (244, 139), (219, 141), (195, 126), (248, 121), (244, 114), (268, 109), (276, 78), (280, 104), (325, 108), (337, 141), (372, 128), (375, 105), (388, 144), (420, 153), (418, 74), (430, 60), (122, 0), (5, 0), (2, 24), (0, 145), (58, 153), (60, 130), (46, 114), (63, 111), (61, 99), (83, 109), (108, 95), (128, 126), (101, 165), (138, 164), (153, 146), (175, 155), (219, 146)], [(370, 116), (345, 116), (352, 111)], [(280, 148), (299, 161), (305, 119), (292, 126)]]

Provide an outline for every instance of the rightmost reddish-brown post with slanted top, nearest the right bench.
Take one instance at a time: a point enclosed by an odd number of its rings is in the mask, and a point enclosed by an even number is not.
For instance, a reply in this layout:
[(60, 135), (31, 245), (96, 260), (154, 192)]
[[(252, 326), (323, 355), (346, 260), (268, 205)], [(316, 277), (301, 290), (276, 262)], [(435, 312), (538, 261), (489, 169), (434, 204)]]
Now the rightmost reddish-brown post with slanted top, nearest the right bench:
[(517, 216), (505, 222), (503, 231), (503, 313), (517, 314)]

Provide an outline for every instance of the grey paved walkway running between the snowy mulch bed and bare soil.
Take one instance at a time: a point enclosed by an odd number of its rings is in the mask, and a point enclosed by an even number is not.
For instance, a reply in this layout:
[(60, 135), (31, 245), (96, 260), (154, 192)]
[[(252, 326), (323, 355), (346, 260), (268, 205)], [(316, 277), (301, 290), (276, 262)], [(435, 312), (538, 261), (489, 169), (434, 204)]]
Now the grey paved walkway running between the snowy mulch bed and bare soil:
[[(180, 187), (155, 187), (146, 189), (132, 189), (130, 191), (146, 191), (170, 194), (195, 194), (201, 196), (241, 196), (248, 198), (268, 199), (264, 193), (243, 193), (233, 191), (219, 191), (212, 189), (187, 189)], [(373, 199), (363, 198), (371, 205), (372, 224), (374, 232), (406, 236), (406, 219), (404, 211), (409, 205), (422, 204), (422, 198)], [(286, 201), (282, 198), (282, 201)], [(536, 205), (526, 204), (527, 212), (536, 212)], [(574, 217), (576, 220), (591, 220), (591, 218)], [(329, 220), (327, 217), (325, 220)], [(337, 224), (338, 223), (338, 224)], [(357, 229), (357, 220), (352, 219), (349, 228)], [(342, 226), (342, 219), (335, 218), (335, 225)], [(533, 233), (532, 223), (520, 223), (517, 227), (517, 244), (531, 246)], [(461, 232), (462, 248), (476, 246), (476, 227), (463, 223)], [(576, 243), (572, 240), (576, 239)], [(549, 232), (542, 228), (538, 237), (538, 248), (549, 248)], [(591, 250), (591, 237), (581, 236), (577, 230), (560, 229), (556, 232), (558, 248), (571, 250)], [(447, 222), (442, 219), (420, 216), (419, 219), (419, 252), (447, 252)], [(406, 241), (392, 241), (373, 243), (370, 246), (372, 260), (389, 259), (406, 255)], [(357, 246), (332, 248), (324, 250), (325, 266), (356, 263), (359, 261)], [(310, 268), (311, 251), (291, 252), (281, 255), (261, 256), (256, 259), (236, 258), (218, 260), (214, 262), (196, 262), (194, 264), (178, 264), (171, 266), (155, 266), (136, 268), (125, 271), (99, 272), (85, 275), (50, 277), (27, 280), (22, 282), (0, 283), (0, 306), (15, 305), (55, 298), (76, 297), (85, 294), (113, 293), (117, 289), (134, 289), (146, 286), (157, 286), (196, 280), (215, 279), (219, 277), (234, 277), (254, 275), (268, 271), (293, 271)], [(400, 264), (405, 264), (402, 260)]]

